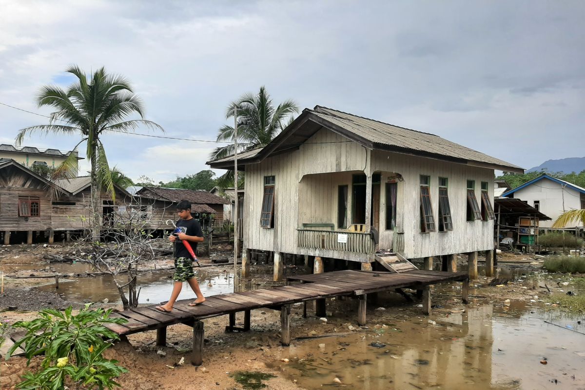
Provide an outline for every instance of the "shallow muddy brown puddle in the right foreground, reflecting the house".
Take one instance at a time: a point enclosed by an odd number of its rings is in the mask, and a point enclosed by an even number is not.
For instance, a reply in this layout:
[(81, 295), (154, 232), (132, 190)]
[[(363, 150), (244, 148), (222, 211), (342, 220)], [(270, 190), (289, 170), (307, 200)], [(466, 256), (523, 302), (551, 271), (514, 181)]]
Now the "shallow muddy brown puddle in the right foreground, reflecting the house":
[[(281, 368), (307, 389), (584, 388), (585, 357), (577, 352), (585, 349), (585, 335), (528, 310), (482, 305), (378, 329), (374, 324), (346, 337), (297, 341), (283, 351), (290, 363)], [(580, 327), (574, 329), (584, 332)]]

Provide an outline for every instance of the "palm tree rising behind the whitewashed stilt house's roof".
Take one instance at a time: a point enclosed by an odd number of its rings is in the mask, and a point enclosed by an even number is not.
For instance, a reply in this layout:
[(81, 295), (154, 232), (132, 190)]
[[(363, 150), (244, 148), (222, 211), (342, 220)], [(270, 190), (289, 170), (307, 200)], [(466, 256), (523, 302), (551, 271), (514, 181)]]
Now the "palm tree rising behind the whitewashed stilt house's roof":
[[(244, 94), (230, 103), (226, 109), (226, 119), (233, 118), (233, 113), (238, 113), (238, 151), (265, 146), (270, 143), (285, 127), (290, 125), (294, 114), (299, 112), (297, 103), (287, 99), (276, 108), (273, 106), (270, 94), (264, 86), (260, 87), (258, 94)], [(222, 126), (218, 130), (216, 141), (233, 141), (233, 126)], [(235, 144), (216, 147), (210, 154), (211, 160), (232, 156)], [(243, 182), (243, 177), (238, 175), (238, 181)], [(227, 188), (233, 185), (233, 170), (227, 171), (218, 178), (218, 187)]]

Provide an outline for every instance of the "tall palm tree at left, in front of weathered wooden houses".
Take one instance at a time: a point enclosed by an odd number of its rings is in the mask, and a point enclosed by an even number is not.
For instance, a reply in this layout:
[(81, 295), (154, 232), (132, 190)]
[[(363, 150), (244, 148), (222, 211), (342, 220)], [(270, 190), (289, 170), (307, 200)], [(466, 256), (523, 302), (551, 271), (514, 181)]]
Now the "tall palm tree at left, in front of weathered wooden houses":
[[(16, 144), (20, 145), (27, 135), (33, 132), (46, 134), (71, 134), (81, 136), (75, 149), (82, 143), (87, 143), (87, 158), (91, 163), (91, 207), (92, 207), (92, 237), (99, 238), (99, 194), (102, 189), (115, 199), (112, 174), (104, 144), (100, 137), (108, 133), (131, 132), (140, 125), (152, 129), (163, 128), (150, 120), (144, 120), (142, 101), (136, 96), (130, 82), (121, 75), (108, 74), (105, 68), (99, 68), (91, 77), (77, 65), (71, 65), (66, 70), (77, 77), (77, 81), (67, 90), (45, 85), (40, 88), (36, 102), (39, 107), (50, 106), (56, 111), (51, 113), (49, 125), (37, 125), (20, 130), (16, 136)], [(127, 119), (137, 114), (140, 119)], [(66, 123), (66, 124), (61, 124)], [(56, 169), (54, 177), (72, 178), (77, 175), (77, 159), (71, 153)]]

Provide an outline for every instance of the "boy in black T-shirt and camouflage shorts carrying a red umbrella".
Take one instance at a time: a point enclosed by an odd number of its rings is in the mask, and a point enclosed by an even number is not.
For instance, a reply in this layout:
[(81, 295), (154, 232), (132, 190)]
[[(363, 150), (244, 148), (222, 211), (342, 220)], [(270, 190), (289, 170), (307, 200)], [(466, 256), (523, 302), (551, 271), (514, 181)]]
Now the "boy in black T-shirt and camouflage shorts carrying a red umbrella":
[[(201, 232), (201, 226), (191, 216), (191, 202), (180, 201), (177, 203), (177, 213), (179, 220), (177, 221), (177, 228), (181, 230), (177, 233), (177, 236), (171, 234), (168, 240), (175, 244), (175, 274), (173, 275), (174, 285), (171, 298), (164, 305), (156, 306), (157, 310), (168, 313), (173, 310), (173, 305), (183, 288), (183, 282), (187, 281), (191, 286), (191, 289), (197, 295), (197, 299), (194, 302), (189, 303), (189, 306), (197, 306), (200, 303), (205, 302), (201, 289), (197, 279), (195, 279), (195, 272), (193, 272), (193, 258), (189, 254), (187, 248), (183, 244), (183, 241), (189, 241), (193, 251), (197, 249), (197, 243), (203, 242), (203, 232)], [(193, 244), (194, 243), (194, 244)]]

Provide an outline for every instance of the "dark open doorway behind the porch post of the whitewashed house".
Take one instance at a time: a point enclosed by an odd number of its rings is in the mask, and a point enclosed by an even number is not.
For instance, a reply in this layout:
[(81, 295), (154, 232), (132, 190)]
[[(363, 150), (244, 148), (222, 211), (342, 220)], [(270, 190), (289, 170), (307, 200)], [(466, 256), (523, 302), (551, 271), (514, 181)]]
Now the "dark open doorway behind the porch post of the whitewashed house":
[[(380, 231), (380, 174), (372, 175), (370, 226)], [(352, 223), (366, 223), (366, 175), (357, 174), (352, 178)]]

